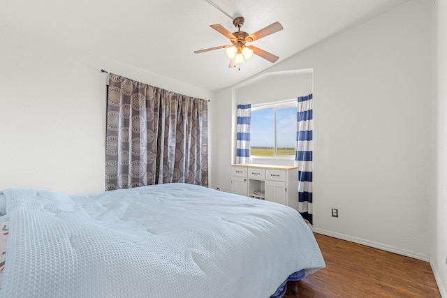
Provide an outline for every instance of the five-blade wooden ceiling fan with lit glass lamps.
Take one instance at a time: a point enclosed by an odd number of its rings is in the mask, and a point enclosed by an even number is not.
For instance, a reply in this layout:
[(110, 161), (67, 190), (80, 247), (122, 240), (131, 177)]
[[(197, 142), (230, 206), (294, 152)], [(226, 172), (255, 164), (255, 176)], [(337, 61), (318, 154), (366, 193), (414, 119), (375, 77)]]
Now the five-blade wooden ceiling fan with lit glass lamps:
[(276, 62), (279, 57), (271, 54), (265, 50), (261, 50), (259, 47), (255, 47), (254, 45), (245, 45), (245, 43), (251, 43), (255, 40), (261, 39), (265, 36), (269, 36), (272, 33), (276, 33), (277, 31), (281, 31), (284, 29), (279, 22), (274, 22), (267, 27), (256, 31), (255, 33), (247, 33), (244, 31), (240, 31), (240, 27), (244, 24), (243, 17), (236, 17), (233, 20), (233, 24), (237, 28), (236, 32), (231, 33), (227, 29), (225, 29), (222, 25), (215, 24), (210, 25), (210, 27), (223, 36), (226, 36), (231, 42), (231, 45), (221, 45), (219, 47), (210, 47), (204, 50), (194, 51), (194, 53), (199, 54), (203, 52), (208, 52), (212, 50), (219, 50), (226, 48), (226, 54), (230, 58), (230, 65), (228, 67), (235, 67), (236, 64), (241, 64), (244, 60), (247, 60), (251, 57), (252, 54), (256, 54), (259, 57), (264, 58), (272, 63)]

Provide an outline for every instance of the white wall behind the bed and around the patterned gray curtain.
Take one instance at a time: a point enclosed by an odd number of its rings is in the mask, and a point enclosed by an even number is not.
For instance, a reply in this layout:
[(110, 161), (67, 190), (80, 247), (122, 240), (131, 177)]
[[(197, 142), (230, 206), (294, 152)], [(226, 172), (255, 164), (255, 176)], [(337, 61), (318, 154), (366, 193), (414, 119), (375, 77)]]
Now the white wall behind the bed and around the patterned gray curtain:
[(0, 27), (0, 189), (104, 189), (105, 75), (181, 94), (212, 92)]

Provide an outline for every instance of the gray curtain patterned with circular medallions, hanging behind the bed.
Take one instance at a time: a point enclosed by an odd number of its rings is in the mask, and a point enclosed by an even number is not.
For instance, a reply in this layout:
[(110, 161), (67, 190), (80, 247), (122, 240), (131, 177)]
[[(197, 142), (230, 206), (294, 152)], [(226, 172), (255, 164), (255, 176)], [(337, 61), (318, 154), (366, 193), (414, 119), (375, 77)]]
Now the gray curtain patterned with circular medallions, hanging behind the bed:
[(208, 186), (207, 100), (109, 74), (105, 190)]

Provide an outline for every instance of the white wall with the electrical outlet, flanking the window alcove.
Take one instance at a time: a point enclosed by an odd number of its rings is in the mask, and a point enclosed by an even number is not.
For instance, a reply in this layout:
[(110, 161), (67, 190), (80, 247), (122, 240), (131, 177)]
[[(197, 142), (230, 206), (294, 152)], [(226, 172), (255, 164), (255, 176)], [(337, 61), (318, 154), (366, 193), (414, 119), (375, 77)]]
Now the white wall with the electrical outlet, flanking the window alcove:
[[(267, 71), (313, 69), (315, 230), (424, 260), (434, 237), (431, 10), (411, 1)], [(234, 117), (223, 114), (237, 104), (234, 89), (219, 93), (219, 121)], [(213, 144), (224, 191), (228, 128), (217, 128), (224, 137)]]

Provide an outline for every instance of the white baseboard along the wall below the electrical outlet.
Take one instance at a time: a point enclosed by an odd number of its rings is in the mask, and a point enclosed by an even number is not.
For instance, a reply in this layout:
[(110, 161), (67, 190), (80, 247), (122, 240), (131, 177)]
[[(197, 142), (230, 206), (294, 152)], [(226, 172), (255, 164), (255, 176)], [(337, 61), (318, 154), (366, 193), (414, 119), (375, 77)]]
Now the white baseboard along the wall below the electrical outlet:
[(419, 253), (415, 253), (413, 251), (406, 251), (402, 248), (397, 248), (394, 246), (389, 246), (389, 245), (381, 244), (381, 243), (374, 242), (374, 241), (369, 241), (369, 240), (365, 240), (365, 239), (361, 239), (361, 238), (357, 238), (357, 237), (351, 237), (351, 236), (348, 236), (345, 234), (339, 234), (337, 232), (331, 232), (328, 230), (321, 230), (321, 229), (317, 229), (317, 228), (312, 228), (312, 232), (316, 232), (318, 234), (323, 234), (326, 236), (330, 236), (330, 237), (334, 237), (334, 238), (338, 238), (338, 239), (342, 239), (342, 240), (346, 240), (346, 241), (351, 241), (354, 243), (358, 243), (358, 244), (362, 244), (362, 245), (366, 245), (366, 246), (370, 246), (370, 247), (374, 247), (374, 248), (379, 248), (382, 251), (389, 251), (390, 253), (397, 253), (398, 255), (405, 255), (406, 257), (423, 260), (425, 262), (430, 261), (430, 258), (427, 255), (420, 255)]

